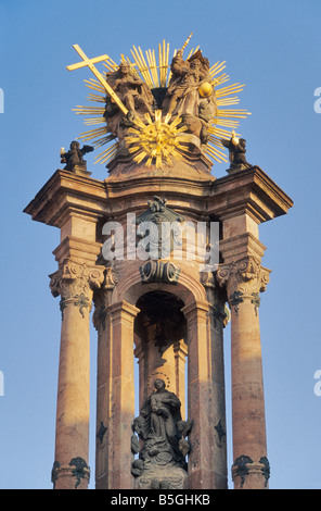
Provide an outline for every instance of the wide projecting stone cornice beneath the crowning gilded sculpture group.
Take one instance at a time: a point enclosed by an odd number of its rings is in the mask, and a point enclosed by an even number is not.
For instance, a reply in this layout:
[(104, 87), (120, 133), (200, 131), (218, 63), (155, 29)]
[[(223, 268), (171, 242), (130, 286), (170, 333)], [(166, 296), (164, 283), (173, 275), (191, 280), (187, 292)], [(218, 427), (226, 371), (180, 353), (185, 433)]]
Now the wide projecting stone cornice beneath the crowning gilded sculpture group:
[[(143, 208), (146, 197), (162, 194), (178, 213), (203, 211), (224, 220), (249, 214), (257, 223), (287, 213), (290, 197), (258, 166), (216, 179), (176, 175), (141, 175), (129, 180), (99, 180), (57, 170), (25, 208), (33, 220), (61, 227), (69, 214), (93, 221)], [(126, 203), (119, 202), (126, 198)], [(130, 200), (129, 200), (130, 199)], [(62, 220), (63, 219), (63, 220)]]

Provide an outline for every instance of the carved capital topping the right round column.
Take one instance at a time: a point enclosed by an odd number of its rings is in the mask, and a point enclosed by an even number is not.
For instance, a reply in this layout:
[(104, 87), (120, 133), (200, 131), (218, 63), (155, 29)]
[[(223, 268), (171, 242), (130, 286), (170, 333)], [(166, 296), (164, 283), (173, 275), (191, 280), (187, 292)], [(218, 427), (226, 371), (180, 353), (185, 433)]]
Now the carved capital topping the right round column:
[(253, 256), (247, 256), (240, 261), (221, 264), (216, 273), (216, 279), (220, 287), (226, 287), (230, 306), (239, 312), (239, 304), (249, 299), (255, 307), (259, 307), (259, 292), (266, 290), (270, 279), (271, 270), (261, 266)]

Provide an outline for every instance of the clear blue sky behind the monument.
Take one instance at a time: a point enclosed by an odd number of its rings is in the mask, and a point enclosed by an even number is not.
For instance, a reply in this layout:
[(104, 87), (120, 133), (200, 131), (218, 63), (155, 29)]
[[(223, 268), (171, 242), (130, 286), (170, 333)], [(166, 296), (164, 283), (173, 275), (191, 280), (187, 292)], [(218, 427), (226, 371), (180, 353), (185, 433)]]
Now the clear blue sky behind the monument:
[[(319, 0), (0, 0), (0, 488), (52, 487), (61, 316), (48, 275), (60, 233), (23, 209), (60, 167), (60, 148), (84, 130), (72, 109), (86, 104), (90, 72), (66, 71), (78, 61), (73, 45), (117, 62), (132, 45), (156, 48), (166, 39), (174, 50), (191, 32), (211, 63), (227, 61), (231, 83), (246, 84), (240, 108), (252, 116), (240, 132), (247, 159), (294, 200), (288, 215), (260, 226), (264, 265), (272, 270), (260, 307), (270, 487), (321, 487), (321, 397), (313, 391), (321, 369), (320, 20)], [(92, 177), (105, 178), (93, 160)], [(224, 176), (226, 164), (213, 173)], [(228, 328), (230, 421), (229, 342)], [(91, 487), (95, 347), (92, 329)]]

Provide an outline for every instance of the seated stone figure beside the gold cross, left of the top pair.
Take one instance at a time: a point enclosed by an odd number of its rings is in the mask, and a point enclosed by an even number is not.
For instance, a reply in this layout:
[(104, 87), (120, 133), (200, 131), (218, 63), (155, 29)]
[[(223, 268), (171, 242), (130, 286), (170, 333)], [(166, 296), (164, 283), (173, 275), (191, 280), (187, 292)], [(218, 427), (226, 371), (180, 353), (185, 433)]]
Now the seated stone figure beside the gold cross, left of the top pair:
[(128, 62), (121, 62), (118, 70), (106, 73), (106, 82), (127, 108), (128, 113), (119, 110), (110, 95), (106, 96), (104, 117), (110, 133), (123, 140), (136, 115), (154, 115), (154, 96), (147, 85), (132, 72)]

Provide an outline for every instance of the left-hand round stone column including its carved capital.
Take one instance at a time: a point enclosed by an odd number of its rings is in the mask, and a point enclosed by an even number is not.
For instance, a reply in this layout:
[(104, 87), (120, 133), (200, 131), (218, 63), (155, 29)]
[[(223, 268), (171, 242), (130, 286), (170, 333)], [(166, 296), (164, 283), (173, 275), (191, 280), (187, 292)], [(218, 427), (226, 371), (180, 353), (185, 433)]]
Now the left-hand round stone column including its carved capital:
[(54, 297), (61, 297), (62, 312), (55, 461), (52, 469), (56, 489), (88, 487), (89, 316), (92, 292), (102, 285), (104, 270), (104, 266), (88, 266), (67, 259), (57, 272), (50, 275), (50, 288)]

